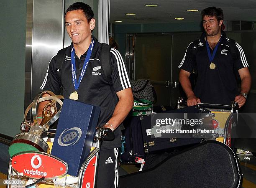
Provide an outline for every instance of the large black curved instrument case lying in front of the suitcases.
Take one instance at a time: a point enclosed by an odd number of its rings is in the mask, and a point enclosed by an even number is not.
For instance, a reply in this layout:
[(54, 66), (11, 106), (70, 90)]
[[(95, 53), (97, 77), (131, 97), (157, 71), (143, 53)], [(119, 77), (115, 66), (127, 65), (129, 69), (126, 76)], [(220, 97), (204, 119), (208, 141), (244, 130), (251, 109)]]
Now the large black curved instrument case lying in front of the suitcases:
[(154, 168), (119, 178), (120, 188), (238, 188), (242, 173), (235, 153), (206, 141), (175, 153)]

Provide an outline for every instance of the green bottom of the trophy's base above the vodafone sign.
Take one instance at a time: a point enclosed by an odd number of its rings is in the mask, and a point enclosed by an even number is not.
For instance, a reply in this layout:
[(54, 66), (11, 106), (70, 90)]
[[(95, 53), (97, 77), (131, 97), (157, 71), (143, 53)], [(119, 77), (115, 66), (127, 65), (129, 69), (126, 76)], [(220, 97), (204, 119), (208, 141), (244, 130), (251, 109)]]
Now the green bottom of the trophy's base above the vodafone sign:
[(36, 147), (26, 144), (26, 143), (14, 143), (10, 145), (9, 147), (9, 155), (12, 157), (13, 155), (19, 153), (19, 152), (25, 152), (25, 151), (39, 151)]

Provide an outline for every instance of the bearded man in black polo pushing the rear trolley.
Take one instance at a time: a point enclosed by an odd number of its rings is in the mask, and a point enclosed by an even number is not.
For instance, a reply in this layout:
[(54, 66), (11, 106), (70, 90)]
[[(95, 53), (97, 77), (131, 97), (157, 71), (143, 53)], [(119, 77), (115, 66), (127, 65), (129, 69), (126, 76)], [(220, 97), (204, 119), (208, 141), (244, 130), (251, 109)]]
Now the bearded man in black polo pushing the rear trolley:
[[(230, 105), (236, 101), (242, 107), (251, 88), (251, 75), (243, 48), (222, 31), (223, 10), (209, 7), (202, 10), (201, 15), (205, 32), (199, 40), (189, 44), (179, 64), (179, 82), (187, 95), (187, 105)], [(191, 73), (196, 75), (194, 89), (189, 81)], [(241, 79), (240, 91), (238, 78)], [(246, 150), (237, 150), (237, 153), (251, 155)]]

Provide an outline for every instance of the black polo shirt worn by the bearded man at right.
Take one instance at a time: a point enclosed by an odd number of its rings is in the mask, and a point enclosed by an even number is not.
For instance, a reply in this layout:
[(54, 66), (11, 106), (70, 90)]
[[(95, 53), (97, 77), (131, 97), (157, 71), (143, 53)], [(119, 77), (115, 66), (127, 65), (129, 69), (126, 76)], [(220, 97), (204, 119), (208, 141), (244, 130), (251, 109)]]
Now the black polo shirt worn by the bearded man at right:
[(222, 31), (220, 44), (212, 61), (216, 67), (212, 70), (210, 69), (211, 62), (207, 54), (205, 36), (206, 34), (202, 33), (199, 40), (189, 44), (179, 68), (192, 73), (197, 67), (194, 93), (202, 103), (230, 105), (238, 95), (234, 68), (239, 70), (248, 67), (246, 56), (242, 47), (236, 42), (236, 58), (233, 60), (230, 39)]

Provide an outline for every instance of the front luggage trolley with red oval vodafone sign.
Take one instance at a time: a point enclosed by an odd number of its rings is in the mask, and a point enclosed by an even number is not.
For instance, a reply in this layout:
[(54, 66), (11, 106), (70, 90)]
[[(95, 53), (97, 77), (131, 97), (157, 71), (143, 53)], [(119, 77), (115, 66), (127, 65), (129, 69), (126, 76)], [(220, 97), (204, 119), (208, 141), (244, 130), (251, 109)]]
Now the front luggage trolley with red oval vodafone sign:
[[(7, 188), (25, 187), (24, 183), (29, 179), (36, 180), (33, 185), (41, 183), (49, 187), (77, 187), (77, 188), (94, 188), (96, 187), (97, 178), (97, 160), (99, 158), (100, 143), (104, 139), (108, 129), (105, 127), (97, 127), (95, 133), (95, 143), (92, 151), (82, 163), (78, 177), (72, 177), (75, 183), (67, 182), (68, 165), (66, 162), (54, 157), (46, 152), (20, 152), (10, 158), (8, 168)], [(110, 135), (109, 135), (110, 136)], [(112, 135), (113, 136), (113, 135)], [(38, 164), (33, 164), (34, 168), (29, 169), (29, 163), (37, 159)], [(44, 171), (41, 170), (44, 163)], [(40, 166), (39, 166), (40, 165)], [(39, 167), (38, 167), (39, 166)], [(44, 177), (46, 176), (46, 177)], [(74, 181), (73, 180), (73, 181)], [(32, 184), (30, 184), (32, 186)], [(27, 185), (26, 187), (30, 187)], [(39, 187), (41, 186), (39, 185)]]

